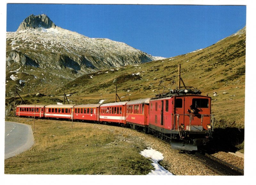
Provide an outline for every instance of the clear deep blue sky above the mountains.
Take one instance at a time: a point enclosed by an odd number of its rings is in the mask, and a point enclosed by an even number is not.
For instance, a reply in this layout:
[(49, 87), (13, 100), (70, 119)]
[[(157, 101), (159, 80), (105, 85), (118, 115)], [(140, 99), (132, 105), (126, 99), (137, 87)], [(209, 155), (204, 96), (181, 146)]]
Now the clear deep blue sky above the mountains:
[(246, 25), (246, 6), (7, 4), (6, 31), (16, 31), (31, 14), (46, 14), (64, 29), (162, 57), (211, 46)]

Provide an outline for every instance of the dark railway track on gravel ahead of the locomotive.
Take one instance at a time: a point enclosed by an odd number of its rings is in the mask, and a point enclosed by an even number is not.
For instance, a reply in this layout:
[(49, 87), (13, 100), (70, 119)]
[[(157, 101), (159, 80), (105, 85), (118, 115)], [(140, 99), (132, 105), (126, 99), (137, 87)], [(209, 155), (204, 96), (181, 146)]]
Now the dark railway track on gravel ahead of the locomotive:
[(220, 175), (244, 175), (244, 170), (220, 160), (208, 153), (186, 152), (186, 154), (212, 169)]

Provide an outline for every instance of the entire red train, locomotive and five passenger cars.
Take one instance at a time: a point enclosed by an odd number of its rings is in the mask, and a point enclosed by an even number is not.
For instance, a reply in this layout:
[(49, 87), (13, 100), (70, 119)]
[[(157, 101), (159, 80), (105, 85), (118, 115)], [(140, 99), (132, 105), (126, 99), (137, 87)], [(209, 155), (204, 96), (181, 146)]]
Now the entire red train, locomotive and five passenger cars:
[(112, 123), (150, 133), (173, 149), (198, 150), (212, 140), (211, 97), (179, 87), (152, 98), (105, 104), (17, 105), (16, 116)]

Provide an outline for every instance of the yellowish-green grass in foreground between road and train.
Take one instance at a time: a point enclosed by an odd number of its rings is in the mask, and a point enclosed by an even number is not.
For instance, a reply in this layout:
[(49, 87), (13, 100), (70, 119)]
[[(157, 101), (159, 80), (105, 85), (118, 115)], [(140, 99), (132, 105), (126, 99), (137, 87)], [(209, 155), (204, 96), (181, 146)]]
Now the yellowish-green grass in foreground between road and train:
[[(30, 125), (33, 119), (6, 120)], [(35, 125), (34, 146), (5, 160), (5, 174), (145, 175), (153, 169), (139, 154), (146, 146), (122, 128), (74, 122), (72, 129), (72, 122), (42, 119)]]

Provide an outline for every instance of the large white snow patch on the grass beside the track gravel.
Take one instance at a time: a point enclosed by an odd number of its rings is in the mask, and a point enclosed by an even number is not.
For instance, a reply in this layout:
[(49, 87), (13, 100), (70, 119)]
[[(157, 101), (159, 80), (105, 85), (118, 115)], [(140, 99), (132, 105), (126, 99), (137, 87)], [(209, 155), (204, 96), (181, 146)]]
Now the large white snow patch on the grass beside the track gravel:
[(140, 152), (141, 155), (144, 157), (150, 158), (150, 160), (153, 162), (152, 165), (155, 168), (155, 170), (151, 170), (148, 175), (173, 175), (168, 170), (164, 169), (158, 162), (164, 159), (164, 156), (162, 153), (147, 147), (147, 149)]

